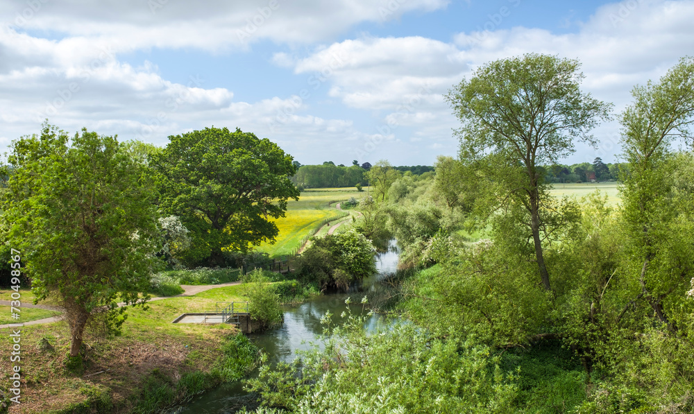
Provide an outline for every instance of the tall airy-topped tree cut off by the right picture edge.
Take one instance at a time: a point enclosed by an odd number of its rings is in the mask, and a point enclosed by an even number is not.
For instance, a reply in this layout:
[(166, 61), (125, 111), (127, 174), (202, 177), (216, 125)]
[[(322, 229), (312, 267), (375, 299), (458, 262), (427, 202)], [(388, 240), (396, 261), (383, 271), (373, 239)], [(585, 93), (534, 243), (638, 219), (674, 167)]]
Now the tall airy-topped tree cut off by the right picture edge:
[(693, 137), (694, 58), (680, 60), (659, 83), (634, 87), (632, 96), (634, 103), (620, 119), (629, 162), (628, 173), (622, 176), (624, 217), (638, 257), (641, 297), (659, 320), (672, 326), (663, 301), (686, 286), (694, 266), (691, 252), (682, 252), (691, 245), (691, 230), (681, 221), (678, 224), (678, 212), (669, 199), (670, 146), (675, 139)]

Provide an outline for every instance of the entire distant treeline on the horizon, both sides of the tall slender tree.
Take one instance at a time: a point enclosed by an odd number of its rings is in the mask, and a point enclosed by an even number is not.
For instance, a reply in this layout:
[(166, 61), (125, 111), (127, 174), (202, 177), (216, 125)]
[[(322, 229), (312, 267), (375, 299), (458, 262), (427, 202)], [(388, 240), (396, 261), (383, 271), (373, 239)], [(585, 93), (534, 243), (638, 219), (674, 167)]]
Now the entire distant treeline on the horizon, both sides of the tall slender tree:
[[(335, 165), (335, 162), (326, 161), (317, 165), (302, 165), (294, 162), (298, 166), (298, 171), (291, 178), (291, 181), (302, 188), (330, 188), (330, 187), (356, 187), (357, 184), (369, 185), (369, 180), (365, 173), (371, 169), (369, 162), (359, 164), (355, 159), (352, 165)], [(550, 166), (539, 166), (538, 170), (544, 176), (545, 182), (604, 182), (616, 181), (619, 177), (620, 169), (625, 169), (625, 163), (605, 163), (600, 157), (596, 157), (593, 162), (581, 162), (578, 164), (552, 164)], [(435, 166), (416, 165), (416, 166), (393, 166), (393, 169), (400, 173), (412, 175), (423, 175), (425, 173), (435, 173)]]

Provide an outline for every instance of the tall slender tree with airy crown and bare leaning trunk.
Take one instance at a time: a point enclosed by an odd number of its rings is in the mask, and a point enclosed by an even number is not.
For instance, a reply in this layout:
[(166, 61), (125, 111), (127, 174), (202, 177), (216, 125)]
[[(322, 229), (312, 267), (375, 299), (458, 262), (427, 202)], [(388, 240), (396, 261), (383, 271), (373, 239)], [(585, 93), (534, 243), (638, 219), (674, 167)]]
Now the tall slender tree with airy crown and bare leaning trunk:
[[(529, 220), (540, 277), (551, 290), (540, 232), (541, 209), (547, 196), (538, 171), (573, 152), (575, 138), (595, 144), (589, 130), (608, 119), (610, 105), (579, 89), (584, 77), (577, 60), (527, 54), (482, 65), (470, 80), (463, 79), (446, 99), (462, 122), (457, 131), (461, 154), (478, 159), (496, 155), (496, 174), (505, 185), (501, 198), (522, 205)], [(518, 175), (521, 178), (518, 178)]]

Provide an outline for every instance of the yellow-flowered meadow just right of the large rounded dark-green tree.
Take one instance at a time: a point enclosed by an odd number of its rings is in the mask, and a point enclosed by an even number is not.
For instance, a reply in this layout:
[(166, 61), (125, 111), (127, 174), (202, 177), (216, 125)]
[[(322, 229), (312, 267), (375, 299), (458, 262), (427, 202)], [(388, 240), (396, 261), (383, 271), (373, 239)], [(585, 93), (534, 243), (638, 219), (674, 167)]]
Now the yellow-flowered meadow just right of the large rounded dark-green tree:
[(337, 214), (335, 205), (328, 207), (328, 202), (347, 200), (350, 197), (362, 198), (367, 189), (357, 191), (354, 187), (338, 189), (306, 189), (301, 192), (298, 201), (287, 202), (287, 215), (278, 218), (275, 224), (280, 230), (275, 244), (262, 243), (255, 250), (265, 252), (271, 257), (289, 255), (301, 247), (301, 240), (326, 218)]

